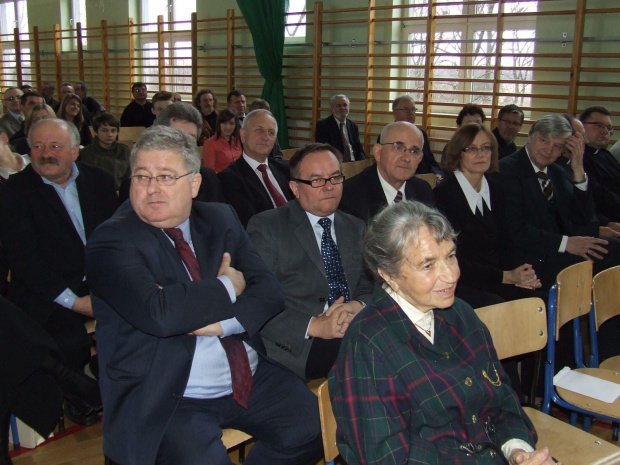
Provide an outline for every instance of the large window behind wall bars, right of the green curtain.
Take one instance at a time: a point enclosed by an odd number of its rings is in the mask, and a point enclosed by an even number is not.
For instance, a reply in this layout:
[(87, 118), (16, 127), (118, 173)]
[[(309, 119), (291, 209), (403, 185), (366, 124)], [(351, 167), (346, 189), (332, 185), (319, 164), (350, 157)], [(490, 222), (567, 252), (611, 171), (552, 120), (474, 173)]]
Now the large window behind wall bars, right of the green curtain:
[[(409, 0), (409, 16), (421, 18), (405, 23), (408, 57), (406, 88), (421, 101), (426, 64), (426, 25), (428, 0)], [(449, 3), (454, 3), (450, 5)], [(535, 12), (536, 1), (505, 3), (506, 13)], [(497, 13), (499, 2), (472, 4), (444, 0), (436, 8), (433, 79), (430, 96), (434, 109), (458, 113), (459, 105), (492, 103), (497, 47)], [(468, 15), (467, 18), (459, 18)], [(486, 16), (488, 15), (488, 16)], [(533, 80), (535, 23), (524, 18), (504, 22), (500, 65), (502, 69), (500, 105), (516, 103), (529, 106)], [(453, 104), (442, 107), (442, 103)]]

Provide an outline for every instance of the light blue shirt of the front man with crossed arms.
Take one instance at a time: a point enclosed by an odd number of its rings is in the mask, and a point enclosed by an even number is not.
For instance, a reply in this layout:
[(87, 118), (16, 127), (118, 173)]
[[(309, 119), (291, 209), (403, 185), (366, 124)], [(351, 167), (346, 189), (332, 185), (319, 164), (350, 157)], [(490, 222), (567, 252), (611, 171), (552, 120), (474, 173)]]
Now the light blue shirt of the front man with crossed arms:
[[(183, 231), (183, 239), (185, 239), (185, 242), (189, 244), (193, 251), (194, 245), (190, 234), (189, 219), (178, 225), (177, 228)], [(174, 244), (172, 239), (170, 239), (170, 242)], [(231, 302), (235, 303), (237, 300), (235, 289), (228, 276), (218, 276), (218, 279), (226, 287)], [(245, 329), (236, 318), (220, 321), (220, 325), (223, 331), (221, 337), (245, 332)], [(258, 365), (258, 354), (245, 342), (244, 345), (250, 360), (252, 374), (254, 374)], [(196, 351), (194, 352), (192, 368), (184, 396), (194, 399), (216, 399), (229, 394), (232, 394), (232, 378), (224, 347), (222, 347), (216, 336), (197, 336)]]

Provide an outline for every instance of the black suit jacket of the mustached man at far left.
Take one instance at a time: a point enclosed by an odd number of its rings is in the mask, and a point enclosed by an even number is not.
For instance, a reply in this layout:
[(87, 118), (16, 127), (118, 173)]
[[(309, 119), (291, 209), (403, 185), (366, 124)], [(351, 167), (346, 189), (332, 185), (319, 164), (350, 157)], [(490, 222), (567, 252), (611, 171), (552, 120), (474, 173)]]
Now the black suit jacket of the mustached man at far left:
[[(88, 239), (118, 205), (114, 178), (107, 171), (76, 162), (76, 185)], [(14, 174), (0, 191), (0, 238), (6, 253), (14, 302), (43, 323), (60, 306), (54, 299), (69, 288), (88, 294), (84, 244), (54, 188), (32, 165)]]

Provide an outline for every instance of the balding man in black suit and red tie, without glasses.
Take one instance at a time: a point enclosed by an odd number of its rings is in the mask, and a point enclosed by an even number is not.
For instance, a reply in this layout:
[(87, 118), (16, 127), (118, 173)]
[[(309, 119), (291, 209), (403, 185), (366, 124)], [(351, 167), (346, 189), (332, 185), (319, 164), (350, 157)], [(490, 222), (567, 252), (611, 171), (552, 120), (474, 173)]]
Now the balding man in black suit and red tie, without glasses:
[(226, 202), (243, 226), (257, 213), (293, 199), (288, 162), (269, 158), (278, 135), (278, 123), (268, 110), (254, 110), (243, 120), (240, 137), (243, 155), (218, 173)]

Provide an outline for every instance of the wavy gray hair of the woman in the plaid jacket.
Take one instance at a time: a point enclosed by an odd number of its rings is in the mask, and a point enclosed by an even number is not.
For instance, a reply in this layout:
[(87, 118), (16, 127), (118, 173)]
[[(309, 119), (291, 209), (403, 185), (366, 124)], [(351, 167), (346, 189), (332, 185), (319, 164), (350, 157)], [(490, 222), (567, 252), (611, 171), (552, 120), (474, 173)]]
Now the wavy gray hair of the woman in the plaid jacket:
[(362, 253), (366, 266), (378, 282), (383, 281), (379, 270), (390, 278), (400, 276), (409, 247), (424, 226), (437, 242), (456, 240), (446, 217), (420, 202), (394, 203), (375, 216), (364, 237)]

